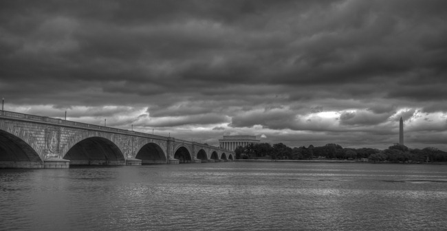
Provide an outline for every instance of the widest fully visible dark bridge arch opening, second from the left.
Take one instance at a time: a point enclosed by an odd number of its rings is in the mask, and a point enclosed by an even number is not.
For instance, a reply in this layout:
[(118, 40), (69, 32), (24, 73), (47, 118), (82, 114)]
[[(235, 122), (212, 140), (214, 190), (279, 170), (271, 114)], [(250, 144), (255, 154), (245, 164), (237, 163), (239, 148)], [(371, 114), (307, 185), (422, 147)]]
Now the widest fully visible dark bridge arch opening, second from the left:
[(63, 159), (71, 165), (125, 165), (118, 146), (105, 137), (87, 137), (69, 148)]

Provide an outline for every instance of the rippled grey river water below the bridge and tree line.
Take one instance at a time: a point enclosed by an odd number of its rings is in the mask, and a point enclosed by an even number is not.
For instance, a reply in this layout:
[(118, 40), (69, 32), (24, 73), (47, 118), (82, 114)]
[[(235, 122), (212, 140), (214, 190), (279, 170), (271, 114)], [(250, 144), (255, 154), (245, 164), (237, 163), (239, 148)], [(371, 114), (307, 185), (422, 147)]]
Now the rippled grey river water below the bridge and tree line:
[(0, 169), (0, 230), (445, 230), (447, 166)]

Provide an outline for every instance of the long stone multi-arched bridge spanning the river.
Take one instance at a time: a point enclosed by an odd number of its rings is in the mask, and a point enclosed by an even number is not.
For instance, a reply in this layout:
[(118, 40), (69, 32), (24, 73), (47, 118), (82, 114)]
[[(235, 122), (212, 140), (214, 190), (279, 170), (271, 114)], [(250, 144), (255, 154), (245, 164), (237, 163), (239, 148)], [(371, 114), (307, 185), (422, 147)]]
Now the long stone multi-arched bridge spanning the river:
[(0, 168), (230, 162), (232, 151), (174, 137), (0, 111)]

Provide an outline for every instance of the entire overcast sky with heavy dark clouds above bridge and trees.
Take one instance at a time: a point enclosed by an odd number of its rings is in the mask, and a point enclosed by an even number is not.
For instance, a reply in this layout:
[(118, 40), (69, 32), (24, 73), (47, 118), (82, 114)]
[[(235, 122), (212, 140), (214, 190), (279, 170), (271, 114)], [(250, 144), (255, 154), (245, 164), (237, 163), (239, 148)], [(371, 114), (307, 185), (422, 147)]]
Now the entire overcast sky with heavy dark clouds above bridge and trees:
[(0, 1), (5, 109), (218, 145), (447, 151), (447, 1)]

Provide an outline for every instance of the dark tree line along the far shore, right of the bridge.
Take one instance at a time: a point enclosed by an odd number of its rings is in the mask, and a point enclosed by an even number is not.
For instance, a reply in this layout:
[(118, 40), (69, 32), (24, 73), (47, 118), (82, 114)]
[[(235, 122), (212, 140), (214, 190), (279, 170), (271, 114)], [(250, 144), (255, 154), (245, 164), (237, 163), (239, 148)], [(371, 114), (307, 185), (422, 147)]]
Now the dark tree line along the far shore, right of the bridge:
[(437, 148), (410, 149), (394, 144), (385, 150), (343, 148), (339, 144), (294, 147), (283, 143), (248, 144), (235, 149), (237, 159), (368, 159), (370, 162), (447, 162), (447, 153)]

